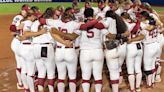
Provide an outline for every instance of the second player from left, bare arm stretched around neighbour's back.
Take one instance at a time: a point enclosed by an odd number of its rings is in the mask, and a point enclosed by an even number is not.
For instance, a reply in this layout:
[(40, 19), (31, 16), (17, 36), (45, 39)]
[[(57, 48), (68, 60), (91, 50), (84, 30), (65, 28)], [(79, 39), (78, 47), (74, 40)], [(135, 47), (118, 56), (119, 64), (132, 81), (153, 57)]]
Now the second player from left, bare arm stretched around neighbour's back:
[(31, 32), (31, 26), (35, 19), (36, 16), (34, 12), (32, 10), (29, 10), (27, 12), (27, 17), (25, 18), (25, 21), (22, 22), (22, 24), (24, 24), (24, 27), (22, 30), (22, 36), (19, 38), (21, 40), (20, 55), (24, 59), (21, 77), (25, 91), (30, 90), (30, 92), (35, 92), (33, 79), (35, 73), (35, 62), (34, 54), (32, 53), (33, 45), (31, 37), (41, 35), (46, 32), (45, 30), (39, 31), (37, 33)]

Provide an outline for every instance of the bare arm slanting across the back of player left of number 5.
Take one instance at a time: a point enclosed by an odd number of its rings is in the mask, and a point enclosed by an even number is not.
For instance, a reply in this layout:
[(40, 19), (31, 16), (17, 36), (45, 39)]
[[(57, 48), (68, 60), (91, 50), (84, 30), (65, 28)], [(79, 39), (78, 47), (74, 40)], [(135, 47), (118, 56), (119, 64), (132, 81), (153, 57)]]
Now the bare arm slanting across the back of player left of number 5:
[(53, 34), (57, 34), (59, 35), (60, 37), (64, 37), (66, 39), (69, 39), (69, 40), (75, 40), (79, 35), (76, 34), (76, 33), (63, 33), (63, 32), (60, 32), (58, 31), (56, 28), (52, 28), (50, 33), (53, 35)]

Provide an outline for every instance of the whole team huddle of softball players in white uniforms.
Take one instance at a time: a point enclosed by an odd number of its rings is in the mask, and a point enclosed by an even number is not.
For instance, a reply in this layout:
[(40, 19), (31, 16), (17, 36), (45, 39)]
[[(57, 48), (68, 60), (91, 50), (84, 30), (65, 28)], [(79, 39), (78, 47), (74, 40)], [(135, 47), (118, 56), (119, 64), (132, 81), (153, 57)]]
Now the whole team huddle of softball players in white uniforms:
[[(83, 92), (102, 92), (104, 63), (112, 92), (120, 92), (122, 65), (126, 64), (129, 92), (140, 92), (143, 74), (146, 88), (160, 82), (163, 23), (148, 3), (98, 1), (79, 8), (23, 5), (10, 25), (11, 48), (16, 58), (17, 88), (24, 92), (77, 92), (77, 68), (81, 68)], [(143, 68), (141, 68), (143, 66)], [(57, 71), (57, 73), (56, 73)], [(36, 74), (37, 72), (37, 74)], [(57, 74), (57, 75), (56, 75)], [(57, 80), (55, 80), (57, 77)], [(46, 82), (47, 81), (47, 82)]]

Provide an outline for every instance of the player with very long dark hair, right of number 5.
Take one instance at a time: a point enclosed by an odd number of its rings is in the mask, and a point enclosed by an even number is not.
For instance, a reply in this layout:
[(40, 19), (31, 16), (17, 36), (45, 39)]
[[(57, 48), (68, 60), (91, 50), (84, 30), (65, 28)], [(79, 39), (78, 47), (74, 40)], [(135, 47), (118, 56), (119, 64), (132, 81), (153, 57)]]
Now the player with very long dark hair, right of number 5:
[[(106, 17), (107, 18), (104, 21), (102, 21), (102, 24), (105, 27), (107, 27), (108, 30), (108, 34), (106, 35), (107, 38), (123, 40), (123, 38), (118, 37), (118, 35), (123, 35), (125, 37), (129, 35), (129, 32), (126, 31), (127, 28), (126, 24), (124, 23), (123, 20), (121, 20), (121, 18), (116, 13), (114, 13), (113, 11), (107, 11)], [(120, 24), (118, 23), (118, 21)], [(122, 28), (118, 28), (118, 27), (122, 27)], [(127, 39), (125, 40), (125, 42), (126, 41)], [(120, 70), (123, 61), (125, 59), (125, 55), (126, 55), (126, 43), (124, 43), (124, 41), (116, 48), (105, 50), (105, 57), (107, 60), (107, 66), (110, 73), (110, 83), (112, 85), (112, 92), (119, 91), (118, 86), (119, 86)]]

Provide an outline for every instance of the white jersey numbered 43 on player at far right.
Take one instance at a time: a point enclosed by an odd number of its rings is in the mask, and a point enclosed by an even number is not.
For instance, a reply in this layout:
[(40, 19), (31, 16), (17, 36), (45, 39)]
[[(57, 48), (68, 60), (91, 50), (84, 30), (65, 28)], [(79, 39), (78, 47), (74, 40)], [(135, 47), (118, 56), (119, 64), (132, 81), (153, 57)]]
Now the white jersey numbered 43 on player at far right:
[(143, 23), (141, 22), (141, 28), (142, 28), (142, 34), (145, 35), (145, 38), (143, 40), (143, 43), (149, 44), (153, 42), (157, 42), (157, 37), (158, 37), (158, 30), (154, 29), (152, 31), (148, 31), (145, 28), (148, 26), (148, 23)]

